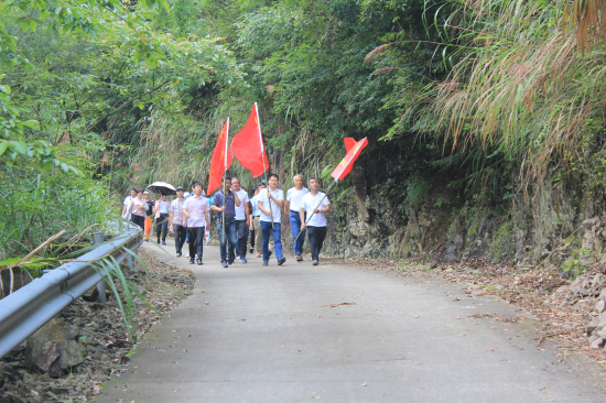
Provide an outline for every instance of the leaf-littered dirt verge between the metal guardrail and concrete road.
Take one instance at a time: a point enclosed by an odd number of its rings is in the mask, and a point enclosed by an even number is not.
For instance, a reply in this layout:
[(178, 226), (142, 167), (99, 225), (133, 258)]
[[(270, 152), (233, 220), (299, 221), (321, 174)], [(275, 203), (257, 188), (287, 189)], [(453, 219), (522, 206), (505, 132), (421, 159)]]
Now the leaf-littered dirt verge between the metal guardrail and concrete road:
[[(192, 294), (195, 277), (192, 272), (163, 263), (140, 249), (140, 258), (149, 269), (126, 270), (127, 279), (143, 290), (144, 297), (163, 316)], [(138, 336), (159, 324), (162, 316), (136, 299), (139, 314)], [(84, 351), (83, 363), (59, 378), (35, 372), (25, 367), (22, 346), (0, 361), (0, 403), (9, 402), (86, 402), (100, 392), (110, 374), (121, 372), (133, 345), (129, 340), (122, 314), (113, 295), (105, 304), (79, 298), (59, 318), (77, 328), (77, 341)]]

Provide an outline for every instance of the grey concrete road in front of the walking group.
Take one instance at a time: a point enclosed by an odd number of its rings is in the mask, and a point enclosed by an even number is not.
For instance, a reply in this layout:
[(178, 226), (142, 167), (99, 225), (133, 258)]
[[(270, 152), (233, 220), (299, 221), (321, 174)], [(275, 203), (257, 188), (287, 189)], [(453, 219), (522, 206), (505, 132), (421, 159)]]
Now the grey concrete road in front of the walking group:
[[(194, 294), (96, 402), (605, 401), (595, 366), (538, 349), (530, 316), (500, 301), (309, 257), (221, 269), (218, 247), (204, 253), (202, 266), (177, 259)], [(470, 317), (495, 313), (528, 318)]]

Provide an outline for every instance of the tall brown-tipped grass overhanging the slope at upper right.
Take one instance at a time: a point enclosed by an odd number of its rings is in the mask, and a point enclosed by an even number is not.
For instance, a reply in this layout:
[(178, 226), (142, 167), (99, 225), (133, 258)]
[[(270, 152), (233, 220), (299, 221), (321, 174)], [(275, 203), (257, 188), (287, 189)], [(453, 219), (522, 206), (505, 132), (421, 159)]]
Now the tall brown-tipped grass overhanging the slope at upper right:
[(604, 120), (602, 37), (592, 36), (586, 47), (582, 33), (588, 29), (565, 29), (571, 17), (563, 3), (459, 4), (458, 15), (448, 19), (456, 25), (436, 28), (455, 32), (466, 51), (457, 54), (446, 80), (421, 95), (430, 107), (416, 109), (419, 121), (444, 131), (445, 144), (453, 149), (480, 144), (497, 150), (520, 167), (524, 183), (543, 178), (550, 166), (571, 166), (582, 159), (584, 139)]

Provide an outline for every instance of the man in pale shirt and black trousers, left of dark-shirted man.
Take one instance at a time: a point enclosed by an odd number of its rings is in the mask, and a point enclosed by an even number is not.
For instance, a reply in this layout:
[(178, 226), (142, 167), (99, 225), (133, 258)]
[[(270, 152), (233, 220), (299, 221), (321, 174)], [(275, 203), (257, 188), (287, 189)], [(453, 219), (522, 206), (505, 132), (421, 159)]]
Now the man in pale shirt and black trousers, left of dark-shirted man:
[(210, 205), (208, 199), (202, 195), (202, 184), (195, 182), (192, 186), (194, 195), (183, 203), (183, 216), (185, 216), (185, 226), (190, 235), (190, 264), (194, 264), (194, 257), (197, 258), (197, 264), (202, 265), (202, 254), (204, 250), (204, 232), (209, 222), (208, 211)]

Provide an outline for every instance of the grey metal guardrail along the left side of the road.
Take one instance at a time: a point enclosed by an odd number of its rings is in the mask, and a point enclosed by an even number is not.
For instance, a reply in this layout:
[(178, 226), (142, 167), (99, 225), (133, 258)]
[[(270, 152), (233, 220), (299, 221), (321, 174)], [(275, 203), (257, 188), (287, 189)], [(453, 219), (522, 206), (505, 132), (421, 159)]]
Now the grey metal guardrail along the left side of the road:
[(69, 262), (34, 279), (24, 287), (0, 299), (0, 358), (33, 335), (63, 308), (97, 285), (107, 274), (100, 274), (90, 264), (101, 258), (113, 257), (118, 263), (143, 243), (139, 227), (129, 226), (127, 232)]

